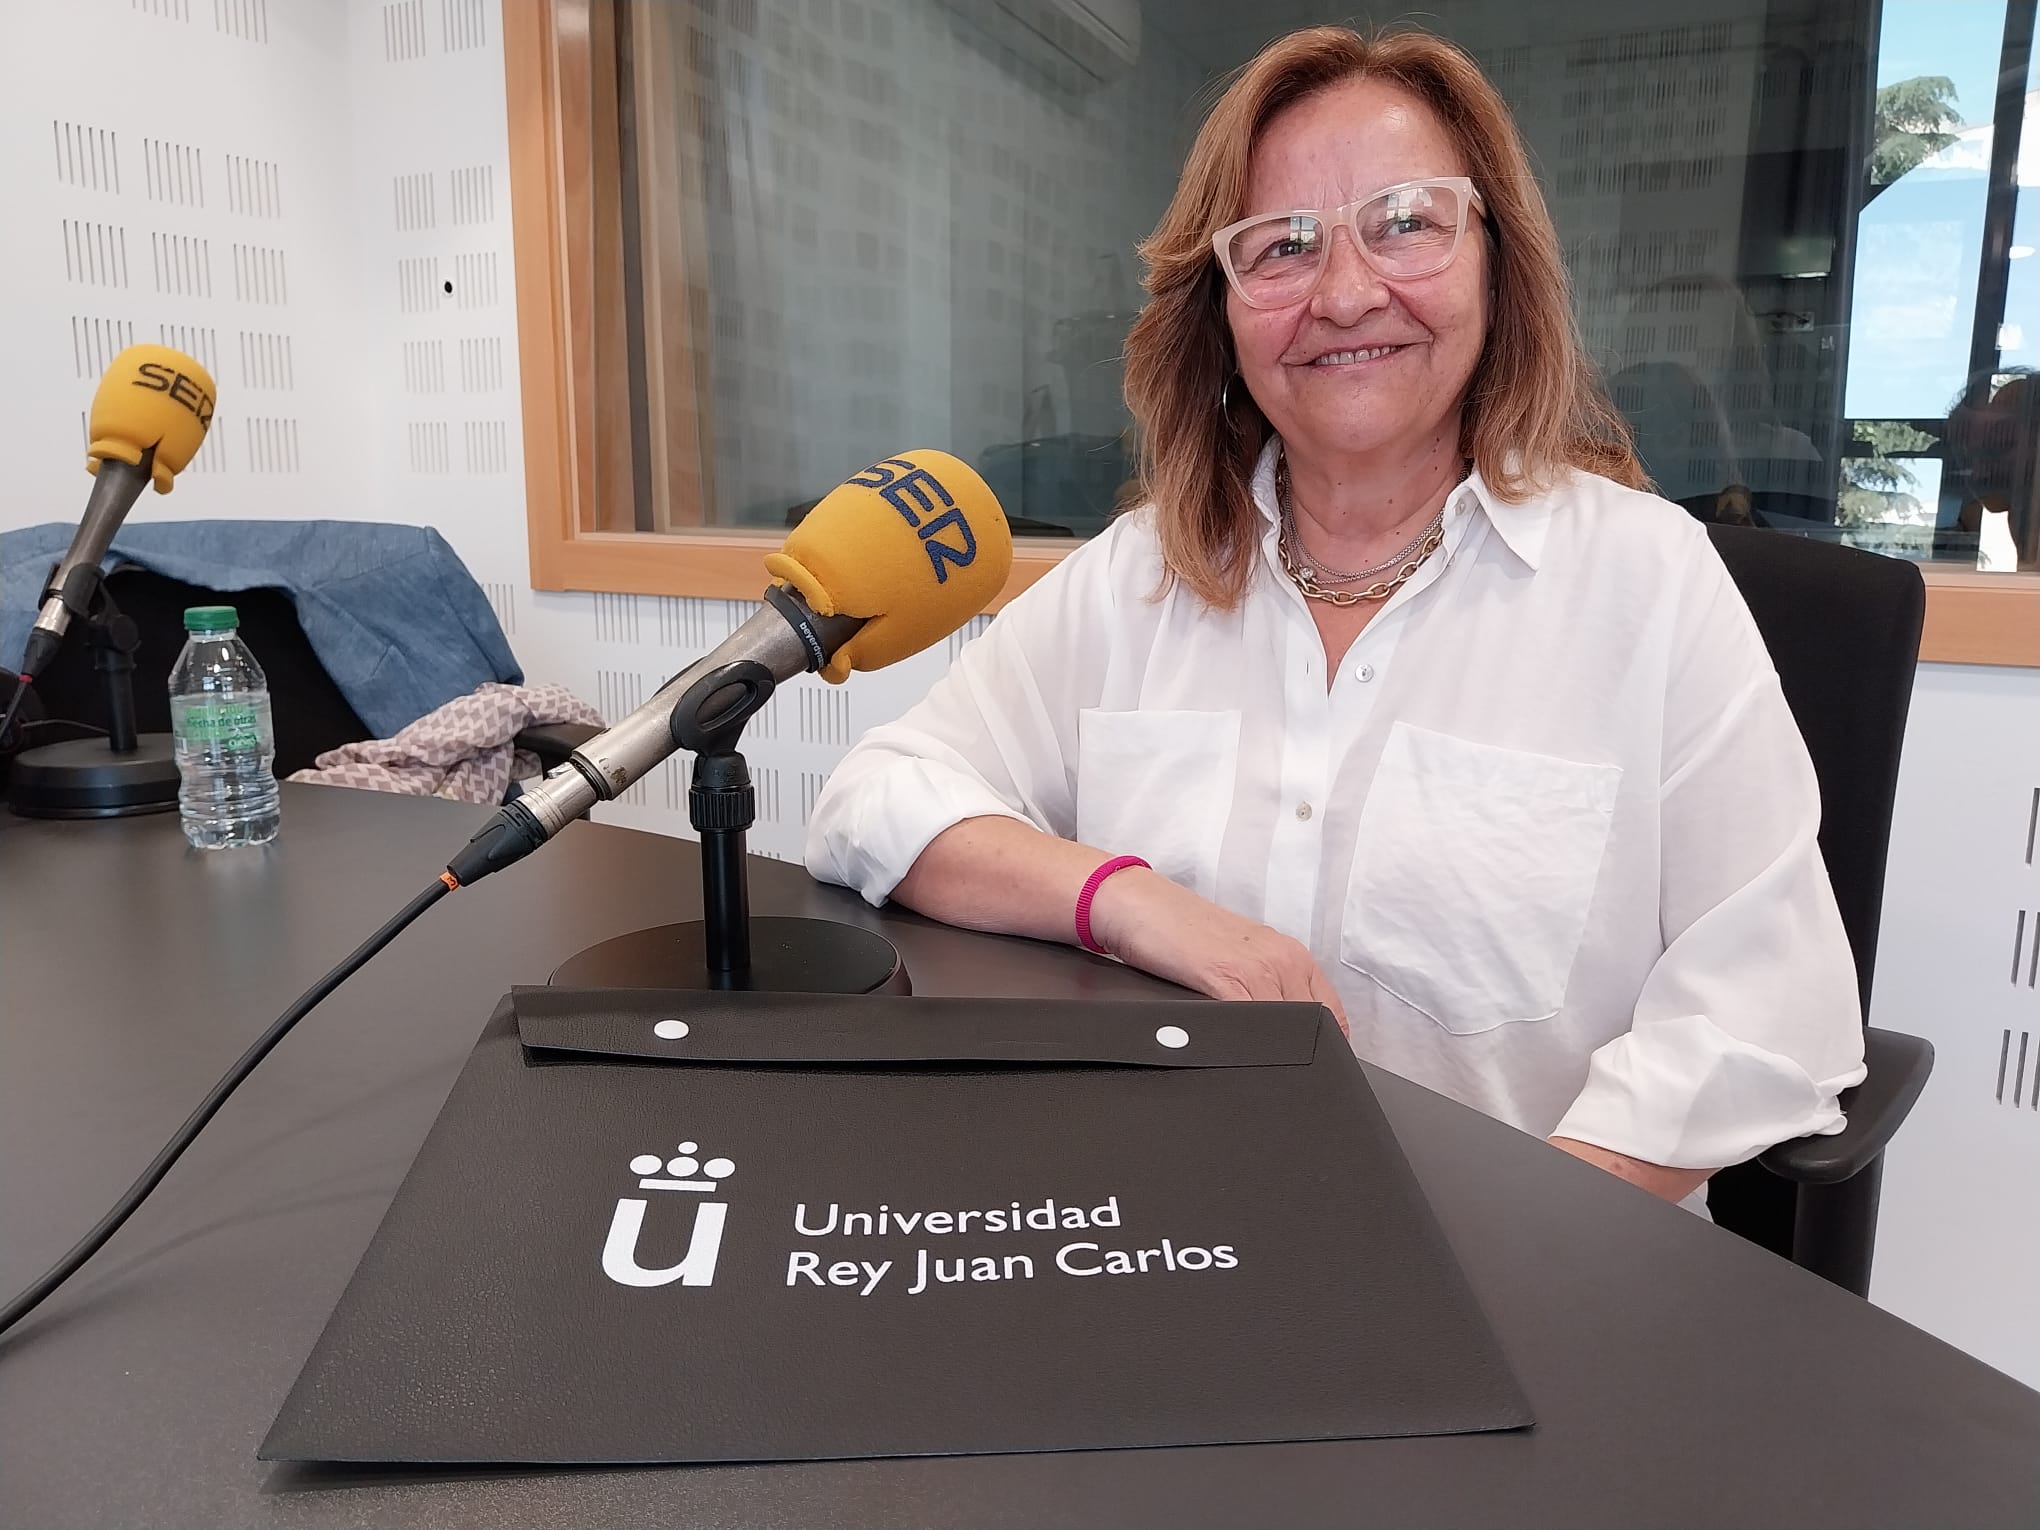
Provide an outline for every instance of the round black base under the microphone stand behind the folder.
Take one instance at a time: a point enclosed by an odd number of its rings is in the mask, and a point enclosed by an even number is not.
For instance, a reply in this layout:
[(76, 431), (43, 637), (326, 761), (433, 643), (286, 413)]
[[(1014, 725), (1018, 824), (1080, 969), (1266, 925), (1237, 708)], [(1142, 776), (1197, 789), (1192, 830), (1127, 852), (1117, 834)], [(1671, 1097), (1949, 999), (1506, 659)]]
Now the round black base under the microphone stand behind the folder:
[(681, 987), (738, 993), (912, 993), (891, 940), (828, 920), (751, 920), (751, 967), (708, 971), (704, 924), (661, 924), (567, 957), (555, 987)]

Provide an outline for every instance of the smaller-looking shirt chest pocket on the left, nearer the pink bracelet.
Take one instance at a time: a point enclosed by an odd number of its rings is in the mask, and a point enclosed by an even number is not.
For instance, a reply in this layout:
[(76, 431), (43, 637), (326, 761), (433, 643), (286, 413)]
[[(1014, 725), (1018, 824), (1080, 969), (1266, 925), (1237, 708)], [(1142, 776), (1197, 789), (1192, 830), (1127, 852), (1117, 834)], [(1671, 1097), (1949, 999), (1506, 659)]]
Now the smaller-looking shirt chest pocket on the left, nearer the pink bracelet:
[(1077, 838), (1212, 898), (1238, 757), (1238, 712), (1081, 712)]

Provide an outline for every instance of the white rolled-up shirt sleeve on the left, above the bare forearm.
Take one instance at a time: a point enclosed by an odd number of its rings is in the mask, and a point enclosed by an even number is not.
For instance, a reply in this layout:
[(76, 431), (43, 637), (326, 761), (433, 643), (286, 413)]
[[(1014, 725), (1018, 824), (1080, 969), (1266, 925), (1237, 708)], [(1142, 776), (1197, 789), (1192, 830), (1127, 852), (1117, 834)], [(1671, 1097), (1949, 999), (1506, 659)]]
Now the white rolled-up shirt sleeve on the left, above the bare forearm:
[(808, 871), (883, 904), (920, 853), (965, 818), (1075, 832), (1077, 710), (1098, 687), (1083, 659), (1112, 610), (1112, 532), (1014, 600), (898, 722), (867, 732), (808, 822)]

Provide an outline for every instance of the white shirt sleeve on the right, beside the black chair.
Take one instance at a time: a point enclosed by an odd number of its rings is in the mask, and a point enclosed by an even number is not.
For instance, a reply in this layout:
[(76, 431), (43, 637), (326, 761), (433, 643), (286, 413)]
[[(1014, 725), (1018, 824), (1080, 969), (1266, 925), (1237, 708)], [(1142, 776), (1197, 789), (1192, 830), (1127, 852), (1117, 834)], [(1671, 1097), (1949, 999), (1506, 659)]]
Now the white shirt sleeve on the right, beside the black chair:
[[(1695, 526), (1697, 532), (1697, 526)], [(1557, 1136), (1681, 1169), (1842, 1130), (1863, 1081), (1820, 787), (1748, 608), (1695, 539), (1669, 667), (1665, 951), (1626, 1034), (1589, 1059)]]

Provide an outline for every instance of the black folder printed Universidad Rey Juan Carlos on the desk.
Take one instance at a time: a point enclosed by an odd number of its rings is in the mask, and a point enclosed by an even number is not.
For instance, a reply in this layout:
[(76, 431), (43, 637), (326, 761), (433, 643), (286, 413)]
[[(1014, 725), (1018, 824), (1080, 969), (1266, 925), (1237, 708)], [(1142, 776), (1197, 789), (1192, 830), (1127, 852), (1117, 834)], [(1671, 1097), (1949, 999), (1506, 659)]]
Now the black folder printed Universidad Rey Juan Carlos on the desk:
[(1316, 1006), (518, 989), (261, 1455), (804, 1461), (1530, 1422)]

